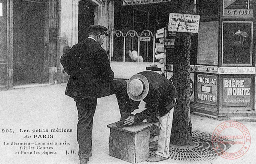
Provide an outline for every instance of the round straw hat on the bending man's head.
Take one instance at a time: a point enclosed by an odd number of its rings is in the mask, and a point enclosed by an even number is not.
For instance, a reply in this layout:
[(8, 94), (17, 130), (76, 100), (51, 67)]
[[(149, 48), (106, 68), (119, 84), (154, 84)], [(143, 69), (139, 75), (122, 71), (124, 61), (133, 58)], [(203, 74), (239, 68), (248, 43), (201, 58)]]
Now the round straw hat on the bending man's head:
[(126, 89), (132, 100), (141, 101), (148, 94), (149, 83), (147, 78), (142, 74), (135, 74), (129, 79)]

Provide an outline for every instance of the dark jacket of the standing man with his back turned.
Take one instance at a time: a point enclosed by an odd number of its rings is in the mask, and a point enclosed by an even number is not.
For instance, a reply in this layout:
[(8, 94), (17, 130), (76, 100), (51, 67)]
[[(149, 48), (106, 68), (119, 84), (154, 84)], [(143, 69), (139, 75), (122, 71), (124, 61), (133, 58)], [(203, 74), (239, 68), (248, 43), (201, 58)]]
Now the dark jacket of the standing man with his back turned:
[(95, 98), (110, 94), (114, 72), (106, 51), (95, 40), (87, 38), (74, 45), (63, 54), (60, 63), (70, 75), (66, 95)]

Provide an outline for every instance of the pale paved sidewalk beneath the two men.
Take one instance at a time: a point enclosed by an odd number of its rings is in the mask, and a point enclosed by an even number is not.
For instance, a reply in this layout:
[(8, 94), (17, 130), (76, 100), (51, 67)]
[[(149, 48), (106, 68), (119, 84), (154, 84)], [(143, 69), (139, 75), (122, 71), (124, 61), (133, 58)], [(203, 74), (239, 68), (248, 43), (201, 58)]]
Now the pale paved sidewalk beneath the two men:
[[(75, 101), (64, 95), (65, 88), (66, 84), (55, 84), (0, 92), (1, 164), (79, 164), (77, 155), (78, 143), (76, 139), (77, 109)], [(144, 109), (143, 105), (141, 103), (140, 110)], [(108, 154), (110, 129), (107, 128), (107, 125), (118, 121), (119, 118), (118, 104), (114, 95), (98, 99), (93, 120), (92, 157), (88, 164), (128, 164), (128, 162)], [(223, 121), (192, 114), (191, 122), (194, 131), (212, 134), (214, 129)], [(215, 161), (211, 162), (166, 160), (157, 164), (254, 164), (256, 122), (242, 123), (248, 128), (252, 142), (248, 152), (241, 158), (227, 160), (218, 157)], [(15, 133), (6, 132), (6, 129), (12, 129)], [(51, 132), (51, 129), (56, 131)], [(60, 129), (60, 132), (58, 129)], [(69, 129), (69, 131), (71, 129), (72, 132), (64, 132), (65, 129)], [(25, 132), (25, 130), (29, 130), (29, 132)], [(33, 132), (32, 130), (35, 131)], [(26, 136), (27, 138), (25, 138)], [(29, 136), (31, 138), (28, 138)], [(70, 145), (38, 145), (38, 143), (53, 142), (70, 142)], [(12, 143), (31, 143), (31, 145), (11, 145)], [(30, 147), (34, 147), (34, 149), (30, 149)], [(233, 147), (230, 149), (233, 149)], [(17, 152), (19, 154), (16, 154)], [(25, 152), (27, 153), (24, 154)], [(35, 154), (36, 152), (40, 154)], [(146, 163), (148, 162), (142, 162), (141, 164)]]

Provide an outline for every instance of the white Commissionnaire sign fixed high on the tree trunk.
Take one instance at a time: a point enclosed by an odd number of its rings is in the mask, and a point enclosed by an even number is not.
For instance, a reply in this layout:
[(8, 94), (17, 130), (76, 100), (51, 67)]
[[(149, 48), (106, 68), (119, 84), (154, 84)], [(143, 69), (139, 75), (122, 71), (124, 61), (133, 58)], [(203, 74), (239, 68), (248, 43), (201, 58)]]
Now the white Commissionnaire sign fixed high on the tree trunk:
[(170, 13), (168, 31), (198, 33), (200, 15)]

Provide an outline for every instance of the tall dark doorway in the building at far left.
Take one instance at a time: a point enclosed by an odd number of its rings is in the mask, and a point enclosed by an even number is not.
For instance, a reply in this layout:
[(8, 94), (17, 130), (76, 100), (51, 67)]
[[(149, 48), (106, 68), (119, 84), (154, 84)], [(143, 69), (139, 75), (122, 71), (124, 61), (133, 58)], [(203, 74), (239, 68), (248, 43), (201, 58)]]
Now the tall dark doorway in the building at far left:
[(44, 2), (13, 1), (13, 85), (43, 82)]

